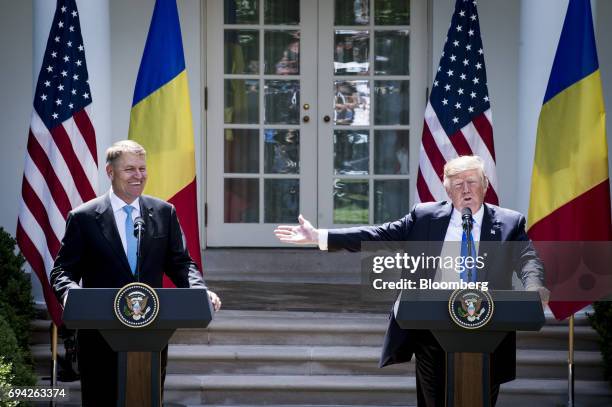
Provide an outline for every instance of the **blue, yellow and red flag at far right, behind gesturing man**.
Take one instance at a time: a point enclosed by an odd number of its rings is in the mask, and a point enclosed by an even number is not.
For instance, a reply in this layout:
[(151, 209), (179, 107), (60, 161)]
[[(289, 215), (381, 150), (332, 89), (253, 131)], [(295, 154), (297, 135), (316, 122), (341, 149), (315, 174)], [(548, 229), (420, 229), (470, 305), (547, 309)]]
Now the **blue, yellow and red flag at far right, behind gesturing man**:
[(538, 122), (528, 229), (536, 247), (573, 242), (540, 253), (558, 319), (610, 290), (609, 265), (584, 266), (608, 256), (608, 242), (596, 243), (612, 238), (605, 118), (591, 4), (570, 0)]

